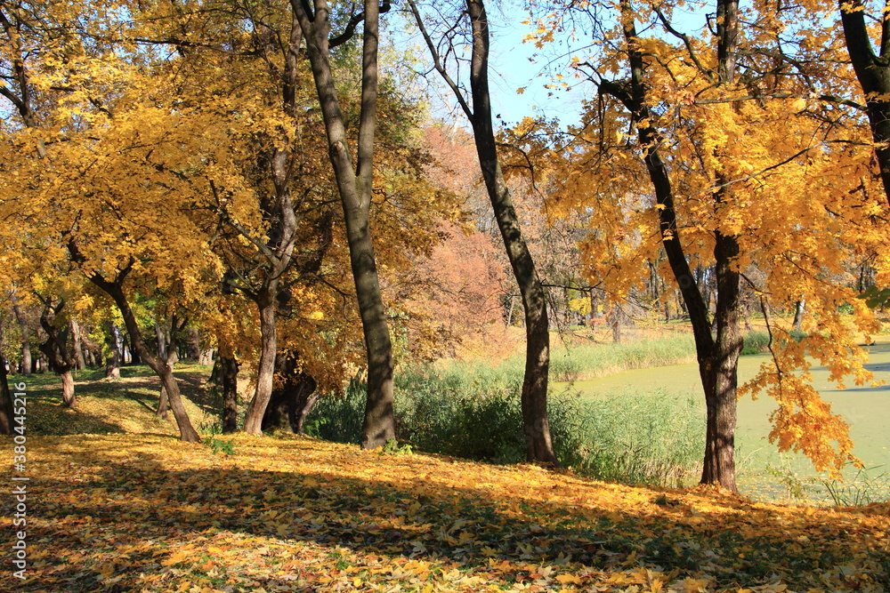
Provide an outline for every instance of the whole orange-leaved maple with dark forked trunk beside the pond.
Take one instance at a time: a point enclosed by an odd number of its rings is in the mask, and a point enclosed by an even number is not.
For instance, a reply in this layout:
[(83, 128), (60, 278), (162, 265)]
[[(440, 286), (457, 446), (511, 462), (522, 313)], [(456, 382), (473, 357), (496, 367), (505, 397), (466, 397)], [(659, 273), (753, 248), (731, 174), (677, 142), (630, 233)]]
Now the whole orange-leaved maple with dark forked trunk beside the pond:
[[(775, 45), (772, 32), (790, 13), (750, 9), (745, 20), (756, 26), (740, 47), (734, 2), (717, 2), (707, 39), (680, 31), (663, 5), (623, 1), (612, 28), (601, 27), (600, 9), (587, 9), (588, 31), (602, 40), (603, 52), (573, 60), (597, 98), (587, 104), (586, 125), (562, 149), (570, 171), (554, 204), (594, 214), (587, 262), (595, 279), (620, 287), (619, 295), (641, 283), (643, 262), (663, 250), (658, 273), (673, 276), (683, 295), (708, 408), (703, 483), (735, 489), (740, 280), (764, 304), (805, 294), (818, 310), (810, 337), (798, 343), (789, 328), (773, 325), (773, 363), (744, 390), (776, 397), (771, 439), (782, 450), (805, 452), (818, 469), (839, 469), (854, 460), (845, 421), (791, 371), (808, 369), (809, 353), (838, 381), (845, 373), (867, 377), (862, 350), (837, 308), (855, 301), (843, 261), (851, 250), (878, 244), (880, 206), (870, 197), (859, 128), (844, 110), (850, 101), (843, 73), (822, 76), (817, 60), (787, 55), (789, 47), (806, 54), (799, 38), (797, 45)], [(643, 36), (637, 22), (659, 34)], [(539, 30), (557, 26), (543, 19)], [(821, 58), (837, 57), (837, 49)], [(803, 187), (810, 191), (795, 191)], [(789, 220), (795, 209), (801, 214)], [(693, 271), (711, 265), (714, 311)], [(745, 275), (752, 265), (765, 272), (764, 282)], [(864, 309), (854, 303), (854, 324), (868, 333), (875, 325)]]

